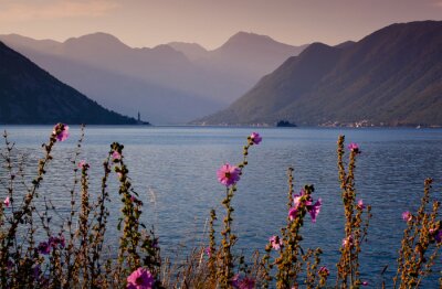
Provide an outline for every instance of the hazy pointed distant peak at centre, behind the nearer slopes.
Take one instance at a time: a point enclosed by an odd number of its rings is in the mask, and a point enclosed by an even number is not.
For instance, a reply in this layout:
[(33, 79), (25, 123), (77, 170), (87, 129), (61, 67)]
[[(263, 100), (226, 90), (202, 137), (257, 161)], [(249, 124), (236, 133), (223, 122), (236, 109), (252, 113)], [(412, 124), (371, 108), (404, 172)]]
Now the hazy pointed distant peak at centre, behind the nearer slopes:
[(214, 73), (221, 81), (225, 78), (227, 84), (236, 82), (238, 89), (223, 96), (228, 103), (235, 100), (239, 93), (245, 93), (263, 75), (273, 72), (307, 46), (292, 46), (266, 35), (246, 32), (238, 32), (213, 51), (201, 50), (201, 46), (189, 43), (173, 42), (169, 45), (187, 55), (196, 66)]

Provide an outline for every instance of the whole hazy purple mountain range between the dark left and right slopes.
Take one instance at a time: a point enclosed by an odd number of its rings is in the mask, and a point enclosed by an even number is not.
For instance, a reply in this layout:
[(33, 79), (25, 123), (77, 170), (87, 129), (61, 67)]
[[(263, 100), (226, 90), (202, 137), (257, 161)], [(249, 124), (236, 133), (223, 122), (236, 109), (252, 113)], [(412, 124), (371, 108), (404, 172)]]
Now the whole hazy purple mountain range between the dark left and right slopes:
[(17, 34), (0, 40), (106, 107), (140, 111), (155, 124), (182, 124), (228, 107), (302, 50), (251, 33), (214, 51), (179, 42), (133, 49), (106, 33), (63, 43)]

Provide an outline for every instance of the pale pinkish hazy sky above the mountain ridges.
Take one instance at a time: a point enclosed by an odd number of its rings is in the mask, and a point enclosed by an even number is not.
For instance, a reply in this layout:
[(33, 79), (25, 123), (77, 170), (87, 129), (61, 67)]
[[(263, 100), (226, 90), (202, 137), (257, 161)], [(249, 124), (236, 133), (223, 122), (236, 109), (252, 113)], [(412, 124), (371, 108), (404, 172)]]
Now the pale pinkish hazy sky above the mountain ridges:
[(442, 0), (0, 0), (0, 34), (64, 41), (93, 32), (130, 46), (214, 49), (238, 31), (337, 44), (394, 22), (442, 20)]

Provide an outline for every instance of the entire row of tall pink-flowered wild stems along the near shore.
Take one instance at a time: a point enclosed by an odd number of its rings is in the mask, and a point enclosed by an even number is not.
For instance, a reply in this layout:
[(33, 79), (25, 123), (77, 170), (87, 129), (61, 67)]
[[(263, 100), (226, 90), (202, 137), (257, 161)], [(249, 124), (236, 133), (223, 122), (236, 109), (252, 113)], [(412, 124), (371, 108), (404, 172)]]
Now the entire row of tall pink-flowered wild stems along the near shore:
[[(57, 142), (67, 140), (69, 126), (57, 124), (42, 146), (35, 178), (20, 192), (25, 182), (23, 163), (17, 161), (14, 144), (4, 132), (6, 150), (1, 153), (6, 172), (6, 193), (0, 191), (0, 285), (1, 288), (329, 288), (332, 267), (320, 264), (320, 248), (303, 248), (302, 227), (305, 220), (316, 223), (323, 201), (314, 195), (313, 185), (294, 191), (293, 169), (288, 169), (286, 225), (280, 235), (269, 238), (265, 253), (256, 251), (252, 263), (234, 250), (238, 236), (232, 229), (232, 199), (244, 168), (249, 164), (249, 149), (262, 141), (257, 132), (248, 137), (243, 159), (236, 164), (224, 163), (217, 171), (218, 181), (225, 188), (222, 200), (225, 210), (220, 236), (215, 235), (217, 213), (210, 212), (209, 244), (196, 248), (177, 267), (161, 263), (158, 238), (140, 222), (143, 202), (134, 190), (125, 163), (124, 146), (114, 142), (103, 162), (104, 174), (98, 193), (90, 189), (90, 169), (80, 160), (84, 129), (71, 160), (74, 182), (70, 190), (71, 206), (67, 216), (40, 199), (40, 188), (52, 161)], [(356, 159), (361, 153), (357, 143), (348, 146), (348, 167), (344, 163), (344, 137), (338, 140), (338, 172), (345, 214), (345, 232), (338, 244), (340, 258), (335, 288), (368, 286), (360, 278), (359, 254), (368, 234), (371, 207), (358, 199), (355, 185)], [(15, 168), (15, 163), (18, 168)], [(110, 175), (118, 180), (122, 217), (117, 228), (119, 245), (115, 255), (105, 237), (109, 216)], [(20, 183), (18, 183), (20, 182)], [(428, 277), (442, 246), (442, 222), (439, 201), (431, 201), (432, 180), (424, 183), (424, 194), (417, 213), (407, 211), (407, 224), (398, 257), (394, 288), (417, 288)], [(19, 189), (20, 188), (20, 189)], [(4, 199), (3, 199), (4, 197)], [(40, 199), (40, 200), (39, 200)], [(44, 204), (43, 207), (41, 204)], [(51, 221), (60, 215), (57, 228)], [(399, 216), (398, 216), (399, 217)], [(51, 223), (52, 222), (52, 223)], [(442, 277), (440, 279), (442, 286)], [(385, 287), (385, 283), (382, 283)]]

